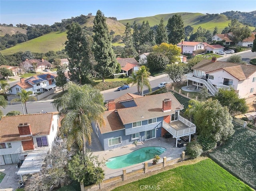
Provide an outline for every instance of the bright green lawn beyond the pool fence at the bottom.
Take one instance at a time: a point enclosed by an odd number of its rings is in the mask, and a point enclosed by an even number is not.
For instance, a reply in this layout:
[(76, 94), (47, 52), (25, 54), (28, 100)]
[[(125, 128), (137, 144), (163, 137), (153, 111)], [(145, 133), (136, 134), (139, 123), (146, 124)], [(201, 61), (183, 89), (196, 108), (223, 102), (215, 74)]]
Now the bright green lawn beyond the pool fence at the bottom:
[(211, 159), (152, 175), (114, 191), (137, 191), (153, 187), (160, 191), (253, 191)]

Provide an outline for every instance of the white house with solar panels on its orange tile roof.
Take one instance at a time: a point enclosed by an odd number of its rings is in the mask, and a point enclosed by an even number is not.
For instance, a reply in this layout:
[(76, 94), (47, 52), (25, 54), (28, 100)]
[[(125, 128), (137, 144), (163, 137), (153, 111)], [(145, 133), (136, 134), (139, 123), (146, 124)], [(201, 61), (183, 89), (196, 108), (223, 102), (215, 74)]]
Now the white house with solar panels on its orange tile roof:
[(19, 83), (10, 87), (10, 94), (16, 95), (21, 89), (32, 91), (33, 93), (44, 93), (56, 87), (56, 74), (44, 73), (34, 75), (28, 79), (21, 78)]

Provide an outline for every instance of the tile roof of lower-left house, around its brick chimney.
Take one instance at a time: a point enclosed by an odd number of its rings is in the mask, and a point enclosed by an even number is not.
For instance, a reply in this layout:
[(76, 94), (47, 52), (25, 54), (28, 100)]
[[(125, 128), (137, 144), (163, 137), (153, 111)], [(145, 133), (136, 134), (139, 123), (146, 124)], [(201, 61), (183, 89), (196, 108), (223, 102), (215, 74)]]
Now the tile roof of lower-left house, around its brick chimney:
[(0, 142), (31, 140), (31, 137), (20, 137), (18, 125), (31, 125), (33, 135), (49, 135), (53, 120), (53, 113), (4, 116), (0, 120)]

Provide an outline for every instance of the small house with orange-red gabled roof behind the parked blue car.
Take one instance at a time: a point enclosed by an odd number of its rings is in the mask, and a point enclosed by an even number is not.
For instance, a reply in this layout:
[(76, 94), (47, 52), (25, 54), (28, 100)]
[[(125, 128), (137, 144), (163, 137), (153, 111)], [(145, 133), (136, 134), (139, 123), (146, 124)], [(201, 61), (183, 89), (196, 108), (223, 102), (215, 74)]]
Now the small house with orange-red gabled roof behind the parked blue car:
[(117, 58), (116, 60), (121, 65), (121, 73), (126, 73), (127, 76), (138, 70), (139, 63), (134, 58)]

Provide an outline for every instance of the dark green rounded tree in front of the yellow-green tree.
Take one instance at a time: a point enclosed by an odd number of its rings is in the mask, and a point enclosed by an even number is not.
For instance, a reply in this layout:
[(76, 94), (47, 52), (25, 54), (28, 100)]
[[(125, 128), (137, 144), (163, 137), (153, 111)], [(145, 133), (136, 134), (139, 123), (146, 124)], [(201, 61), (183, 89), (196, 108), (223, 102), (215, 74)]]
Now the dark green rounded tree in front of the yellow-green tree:
[(166, 65), (169, 63), (168, 57), (160, 52), (152, 52), (147, 56), (147, 65), (150, 71), (165, 69)]

